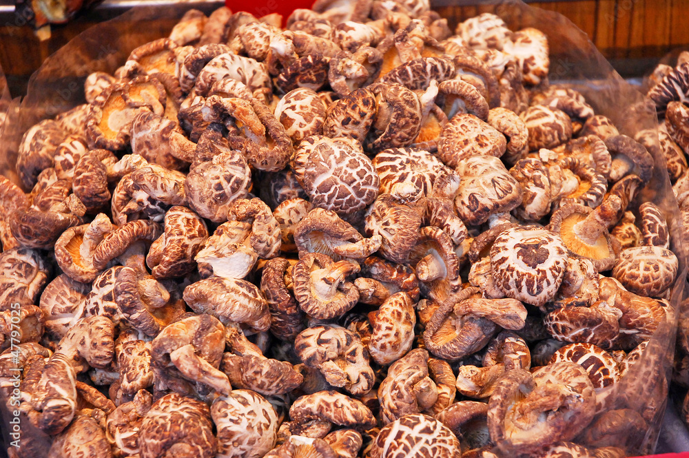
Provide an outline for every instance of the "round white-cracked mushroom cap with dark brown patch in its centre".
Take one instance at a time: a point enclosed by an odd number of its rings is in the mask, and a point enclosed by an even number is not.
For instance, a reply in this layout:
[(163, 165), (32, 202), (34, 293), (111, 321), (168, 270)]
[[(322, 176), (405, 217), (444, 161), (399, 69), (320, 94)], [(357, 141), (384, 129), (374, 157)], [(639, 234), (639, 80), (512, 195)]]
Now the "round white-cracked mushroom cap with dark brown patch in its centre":
[(567, 260), (562, 239), (538, 226), (507, 229), (491, 247), (491, 266), (497, 286), (508, 298), (535, 306), (542, 306), (555, 297)]

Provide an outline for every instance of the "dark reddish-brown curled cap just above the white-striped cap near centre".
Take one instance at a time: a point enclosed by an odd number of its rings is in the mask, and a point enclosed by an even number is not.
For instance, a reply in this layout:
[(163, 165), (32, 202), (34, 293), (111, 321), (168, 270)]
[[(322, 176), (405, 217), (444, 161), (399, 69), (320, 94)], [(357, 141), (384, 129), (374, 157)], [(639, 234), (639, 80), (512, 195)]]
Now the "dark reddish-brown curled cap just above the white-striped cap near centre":
[(368, 150), (405, 147), (418, 136), (422, 111), (419, 97), (397, 83), (376, 83), (369, 87), (376, 96), (376, 116), (364, 145)]

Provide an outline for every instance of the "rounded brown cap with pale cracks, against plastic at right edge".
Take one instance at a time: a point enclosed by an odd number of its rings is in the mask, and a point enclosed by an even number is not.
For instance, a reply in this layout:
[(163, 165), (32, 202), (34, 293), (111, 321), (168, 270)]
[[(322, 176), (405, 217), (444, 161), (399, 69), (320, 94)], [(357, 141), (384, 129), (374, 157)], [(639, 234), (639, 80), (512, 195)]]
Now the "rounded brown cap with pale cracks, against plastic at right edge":
[(631, 247), (621, 251), (613, 267), (613, 277), (629, 291), (657, 297), (672, 286), (679, 260), (663, 247)]

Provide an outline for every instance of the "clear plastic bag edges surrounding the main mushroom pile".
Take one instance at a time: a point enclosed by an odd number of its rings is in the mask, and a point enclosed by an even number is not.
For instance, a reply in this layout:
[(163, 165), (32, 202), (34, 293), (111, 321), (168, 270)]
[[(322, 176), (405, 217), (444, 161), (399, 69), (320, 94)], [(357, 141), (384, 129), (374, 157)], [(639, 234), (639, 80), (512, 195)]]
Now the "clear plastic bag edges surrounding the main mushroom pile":
[[(635, 88), (622, 79), (573, 23), (562, 15), (526, 6), (522, 2), (495, 3), (495, 14), (512, 30), (533, 27), (548, 36), (551, 52), (550, 79), (578, 90), (597, 114), (610, 118), (621, 134), (634, 136), (641, 129), (655, 129), (655, 109)], [(194, 8), (189, 5), (185, 8)], [(0, 139), (0, 171), (13, 178), (12, 165), (17, 160), (17, 146), (26, 129), (44, 118), (55, 116), (79, 103), (84, 103), (83, 82), (94, 71), (112, 73), (126, 56), (147, 39), (141, 28), (156, 27), (160, 36), (172, 29), (184, 9), (134, 8), (121, 17), (83, 32), (64, 48), (50, 56), (32, 76), (28, 95), (16, 116), (9, 116)], [(146, 36), (147, 37), (147, 36)], [(3, 102), (5, 98), (3, 98)], [(652, 201), (664, 212), (670, 226), (670, 249), (679, 258), (679, 273), (667, 309), (667, 319), (648, 343), (644, 355), (617, 384), (614, 408), (636, 410), (648, 421), (644, 437), (630, 440), (637, 444), (630, 455), (644, 455), (655, 448), (668, 394), (677, 330), (677, 309), (683, 299), (686, 259), (681, 246), (681, 218), (664, 156), (659, 147), (652, 148), (655, 174), (641, 193), (640, 202)], [(638, 207), (638, 205), (637, 205)], [(0, 402), (5, 419), (10, 419), (5, 402)], [(5, 422), (8, 425), (8, 422)], [(37, 434), (28, 420), (22, 422), (22, 434)], [(3, 428), (8, 438), (8, 428)], [(39, 437), (39, 435), (37, 435)], [(37, 455), (45, 456), (45, 455)]]

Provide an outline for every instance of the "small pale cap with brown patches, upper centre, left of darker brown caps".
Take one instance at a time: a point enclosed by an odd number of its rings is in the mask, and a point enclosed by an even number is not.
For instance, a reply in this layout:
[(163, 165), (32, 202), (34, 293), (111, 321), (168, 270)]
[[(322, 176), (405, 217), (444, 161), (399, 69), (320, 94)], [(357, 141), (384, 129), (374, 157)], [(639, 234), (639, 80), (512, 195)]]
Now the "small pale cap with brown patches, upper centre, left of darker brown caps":
[(280, 98), (275, 117), (285, 126), (292, 143), (298, 145), (305, 137), (323, 133), (326, 108), (315, 91), (298, 87)]

